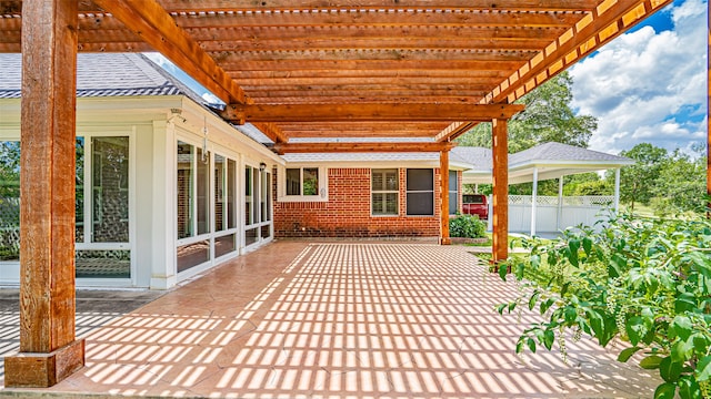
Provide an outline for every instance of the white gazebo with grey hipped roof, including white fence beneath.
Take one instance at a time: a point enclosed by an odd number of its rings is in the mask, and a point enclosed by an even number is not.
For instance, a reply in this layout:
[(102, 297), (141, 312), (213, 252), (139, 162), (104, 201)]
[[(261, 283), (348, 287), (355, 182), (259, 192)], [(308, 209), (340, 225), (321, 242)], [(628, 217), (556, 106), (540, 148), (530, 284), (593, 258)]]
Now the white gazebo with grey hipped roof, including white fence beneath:
[[(452, 150), (452, 160), (473, 165), (462, 174), (463, 184), (490, 184), (492, 181), (491, 150), (483, 147), (458, 146)], [(620, 167), (634, 161), (561, 143), (544, 143), (509, 154), (509, 184), (533, 182), (533, 193), (529, 197), (509, 197), (509, 231), (537, 234), (537, 225), (547, 223), (547, 231), (558, 231), (562, 226), (580, 223), (592, 224), (598, 211), (608, 206), (610, 200), (595, 197), (575, 197), (565, 204), (563, 198), (563, 176), (578, 173), (614, 170), (614, 195), (612, 209), (617, 213), (620, 204)], [(557, 178), (558, 198), (540, 204), (538, 182)], [(543, 209), (539, 209), (543, 207)], [(585, 209), (587, 212), (582, 212)], [(543, 211), (543, 213), (539, 212)], [(565, 212), (568, 211), (568, 212)], [(530, 224), (528, 221), (530, 219)], [(551, 227), (553, 226), (553, 227)]]

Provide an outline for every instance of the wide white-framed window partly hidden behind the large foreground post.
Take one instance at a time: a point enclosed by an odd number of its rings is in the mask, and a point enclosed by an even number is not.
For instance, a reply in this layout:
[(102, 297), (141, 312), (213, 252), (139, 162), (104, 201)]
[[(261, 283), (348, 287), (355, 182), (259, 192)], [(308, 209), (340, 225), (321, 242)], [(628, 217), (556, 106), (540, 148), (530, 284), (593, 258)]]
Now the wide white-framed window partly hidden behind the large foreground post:
[[(76, 140), (74, 222), (78, 278), (130, 278), (130, 140)], [(0, 262), (20, 254), (20, 142), (0, 141)]]

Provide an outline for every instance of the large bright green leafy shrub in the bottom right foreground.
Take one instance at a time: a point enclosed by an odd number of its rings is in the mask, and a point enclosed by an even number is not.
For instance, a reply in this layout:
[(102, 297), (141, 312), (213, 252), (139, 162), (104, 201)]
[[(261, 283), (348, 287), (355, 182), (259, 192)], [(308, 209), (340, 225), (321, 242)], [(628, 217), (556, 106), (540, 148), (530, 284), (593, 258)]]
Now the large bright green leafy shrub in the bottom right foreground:
[[(551, 349), (564, 332), (592, 336), (600, 346), (628, 342), (619, 361), (663, 379), (655, 398), (711, 398), (711, 223), (610, 221), (599, 233), (568, 231), (550, 244), (529, 241), (530, 256), (509, 266), (527, 288), (498, 311), (523, 304), (545, 317), (525, 329), (517, 352)], [(505, 279), (507, 267), (500, 267)]]

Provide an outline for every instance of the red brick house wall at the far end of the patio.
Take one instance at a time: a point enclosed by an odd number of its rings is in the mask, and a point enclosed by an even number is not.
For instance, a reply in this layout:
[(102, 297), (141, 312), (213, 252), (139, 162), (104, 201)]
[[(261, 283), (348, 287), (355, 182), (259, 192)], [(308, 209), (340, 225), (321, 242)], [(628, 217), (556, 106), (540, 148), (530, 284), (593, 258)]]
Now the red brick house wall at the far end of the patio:
[(328, 202), (274, 201), (274, 236), (439, 237), (439, 168), (434, 170), (432, 216), (405, 215), (405, 170), (401, 168), (399, 174), (399, 215), (370, 215), (370, 168), (329, 168)]

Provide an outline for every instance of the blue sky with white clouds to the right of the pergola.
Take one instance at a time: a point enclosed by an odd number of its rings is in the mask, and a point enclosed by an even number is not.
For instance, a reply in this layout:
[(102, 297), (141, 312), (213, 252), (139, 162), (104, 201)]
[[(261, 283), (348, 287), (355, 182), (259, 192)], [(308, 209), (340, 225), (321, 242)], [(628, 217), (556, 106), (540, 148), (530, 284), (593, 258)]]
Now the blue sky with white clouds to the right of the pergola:
[(704, 141), (707, 4), (677, 1), (661, 12), (671, 12), (673, 30), (623, 34), (570, 70), (572, 105), (599, 120), (591, 149), (618, 153), (650, 142), (671, 151)]

